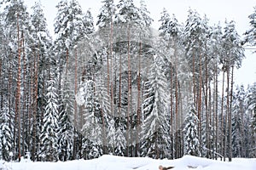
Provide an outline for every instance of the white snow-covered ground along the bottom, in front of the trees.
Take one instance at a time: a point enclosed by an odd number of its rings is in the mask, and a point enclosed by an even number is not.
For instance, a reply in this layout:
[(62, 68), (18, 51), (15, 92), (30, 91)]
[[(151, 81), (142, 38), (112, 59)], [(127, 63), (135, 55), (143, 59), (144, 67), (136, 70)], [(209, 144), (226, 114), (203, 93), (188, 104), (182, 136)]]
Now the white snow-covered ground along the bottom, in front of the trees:
[(4, 162), (0, 161), (0, 170), (158, 170), (158, 167), (174, 166), (173, 170), (256, 170), (256, 159), (235, 158), (232, 162), (213, 161), (195, 156), (183, 156), (177, 160), (154, 160), (119, 156), (102, 156), (84, 161), (58, 162)]

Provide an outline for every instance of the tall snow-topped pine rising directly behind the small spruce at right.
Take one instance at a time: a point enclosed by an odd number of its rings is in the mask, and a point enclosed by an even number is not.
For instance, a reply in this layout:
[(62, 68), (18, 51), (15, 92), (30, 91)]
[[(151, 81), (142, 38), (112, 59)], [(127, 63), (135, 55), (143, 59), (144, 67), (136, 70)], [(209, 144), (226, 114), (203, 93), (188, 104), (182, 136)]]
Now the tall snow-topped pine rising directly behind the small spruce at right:
[[(207, 58), (207, 30), (207, 19), (202, 19), (200, 14), (189, 9), (188, 19), (186, 20), (183, 32), (183, 44), (185, 47), (185, 57), (189, 62), (189, 70), (193, 75), (192, 93), (196, 113), (198, 114), (197, 116), (199, 119), (198, 135), (200, 142), (202, 121), (201, 117), (204, 115), (202, 112), (202, 94), (204, 89), (203, 87), (207, 86), (206, 81), (203, 83), (203, 76), (207, 73), (207, 69), (203, 70), (203, 63), (205, 61), (204, 59)], [(205, 99), (207, 99), (207, 93), (205, 92), (205, 94)]]

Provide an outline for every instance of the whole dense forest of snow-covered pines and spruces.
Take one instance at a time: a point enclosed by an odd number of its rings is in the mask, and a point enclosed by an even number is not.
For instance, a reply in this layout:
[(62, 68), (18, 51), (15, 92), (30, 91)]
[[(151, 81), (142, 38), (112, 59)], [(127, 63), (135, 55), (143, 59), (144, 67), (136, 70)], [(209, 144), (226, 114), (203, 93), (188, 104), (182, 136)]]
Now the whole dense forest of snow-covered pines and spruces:
[(256, 82), (234, 82), (256, 6), (243, 35), (191, 8), (154, 30), (144, 0), (56, 8), (53, 38), (41, 3), (0, 0), (0, 160), (256, 156)]

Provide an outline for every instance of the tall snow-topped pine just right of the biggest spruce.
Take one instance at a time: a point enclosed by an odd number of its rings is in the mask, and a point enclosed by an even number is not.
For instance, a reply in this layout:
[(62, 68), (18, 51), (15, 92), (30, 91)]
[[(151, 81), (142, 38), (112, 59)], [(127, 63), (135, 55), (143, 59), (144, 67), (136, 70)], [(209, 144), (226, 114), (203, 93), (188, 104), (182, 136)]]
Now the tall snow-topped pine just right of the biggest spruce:
[[(178, 62), (177, 59), (182, 59), (182, 51), (180, 47), (180, 28), (178, 26), (177, 23), (177, 19), (175, 17), (175, 15), (172, 15), (172, 18), (170, 17), (170, 15), (167, 13), (166, 8), (163, 9), (163, 11), (161, 12), (161, 18), (160, 18), (160, 37), (161, 37), (161, 41), (160, 41), (160, 50), (163, 51), (162, 53), (167, 54), (165, 57), (165, 68), (166, 68), (166, 77), (168, 78), (168, 82), (170, 83), (170, 121), (168, 120), (168, 122), (170, 122), (170, 133), (171, 133), (171, 141), (170, 141), (170, 150), (172, 150), (171, 152), (171, 158), (174, 158), (174, 152), (177, 155), (178, 152), (178, 143), (180, 143), (181, 141), (177, 141), (177, 136), (178, 136), (178, 132), (174, 132), (174, 129), (178, 129), (178, 121), (176, 121), (177, 117), (178, 117), (178, 109), (177, 109), (177, 104), (179, 101), (178, 97), (177, 97), (177, 90), (178, 90), (178, 80), (177, 80), (177, 63), (181, 63)], [(169, 51), (173, 50), (173, 54), (170, 56)], [(178, 56), (178, 57), (177, 57)], [(181, 66), (181, 65), (180, 65)], [(174, 93), (175, 92), (175, 93)], [(176, 96), (175, 101), (174, 101), (174, 96)], [(174, 105), (175, 104), (175, 105)], [(174, 119), (175, 117), (175, 119)], [(176, 123), (174, 123), (176, 122)], [(175, 125), (174, 125), (175, 124)], [(179, 131), (180, 132), (180, 131)], [(176, 144), (174, 142), (174, 135), (176, 134)], [(176, 149), (174, 149), (176, 148)]]

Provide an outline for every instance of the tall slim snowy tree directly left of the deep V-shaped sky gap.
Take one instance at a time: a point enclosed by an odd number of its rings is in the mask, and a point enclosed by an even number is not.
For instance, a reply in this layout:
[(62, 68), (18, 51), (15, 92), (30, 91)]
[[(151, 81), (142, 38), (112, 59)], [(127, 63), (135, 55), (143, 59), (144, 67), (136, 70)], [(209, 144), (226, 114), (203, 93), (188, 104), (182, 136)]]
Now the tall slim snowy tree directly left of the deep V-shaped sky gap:
[[(34, 58), (36, 58), (36, 68), (34, 74), (34, 85), (33, 85), (33, 118), (32, 118), (32, 140), (30, 141), (32, 144), (32, 161), (36, 160), (36, 154), (38, 153), (39, 147), (39, 136), (42, 129), (42, 115), (44, 115), (44, 109), (46, 106), (46, 95), (45, 88), (46, 82), (49, 80), (47, 76), (48, 65), (52, 65), (50, 63), (51, 59), (49, 59), (50, 51), (52, 48), (52, 39), (49, 35), (49, 31), (47, 29), (47, 21), (44, 17), (44, 11), (42, 4), (40, 2), (35, 3), (32, 6), (32, 37), (34, 39), (33, 42), (33, 50), (34, 50)], [(38, 84), (36, 84), (38, 83)], [(30, 129), (31, 127), (28, 127)]]

